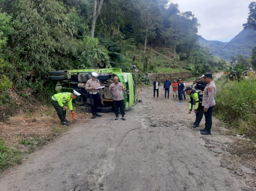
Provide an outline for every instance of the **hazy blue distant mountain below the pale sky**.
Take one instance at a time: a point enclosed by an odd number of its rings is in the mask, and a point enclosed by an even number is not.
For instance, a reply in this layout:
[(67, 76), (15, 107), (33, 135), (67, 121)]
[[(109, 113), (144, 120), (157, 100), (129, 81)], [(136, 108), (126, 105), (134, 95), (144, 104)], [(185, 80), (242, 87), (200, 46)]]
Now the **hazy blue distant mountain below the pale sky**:
[(200, 46), (208, 47), (213, 54), (223, 59), (229, 59), (229, 56), (237, 54), (243, 54), (248, 58), (256, 46), (256, 31), (244, 29), (229, 42), (206, 40), (202, 36), (198, 36), (198, 42)]

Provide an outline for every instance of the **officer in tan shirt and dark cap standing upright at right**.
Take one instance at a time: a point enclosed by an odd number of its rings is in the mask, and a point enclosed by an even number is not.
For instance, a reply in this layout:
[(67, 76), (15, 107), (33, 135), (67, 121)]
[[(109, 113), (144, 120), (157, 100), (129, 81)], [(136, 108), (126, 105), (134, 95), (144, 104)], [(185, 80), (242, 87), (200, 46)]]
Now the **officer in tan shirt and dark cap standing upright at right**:
[(202, 135), (211, 135), (212, 128), (212, 109), (215, 106), (214, 96), (216, 94), (216, 86), (212, 79), (212, 73), (202, 75), (207, 83), (203, 91), (202, 107), (205, 117), (205, 127), (200, 129)]

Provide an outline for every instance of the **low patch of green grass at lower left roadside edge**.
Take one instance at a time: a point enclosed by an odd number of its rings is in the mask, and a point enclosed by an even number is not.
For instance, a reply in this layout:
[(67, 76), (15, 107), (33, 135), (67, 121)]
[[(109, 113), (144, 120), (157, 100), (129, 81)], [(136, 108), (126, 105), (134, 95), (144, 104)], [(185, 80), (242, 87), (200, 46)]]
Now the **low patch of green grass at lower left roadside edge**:
[(21, 152), (10, 147), (0, 137), (0, 172), (22, 162)]

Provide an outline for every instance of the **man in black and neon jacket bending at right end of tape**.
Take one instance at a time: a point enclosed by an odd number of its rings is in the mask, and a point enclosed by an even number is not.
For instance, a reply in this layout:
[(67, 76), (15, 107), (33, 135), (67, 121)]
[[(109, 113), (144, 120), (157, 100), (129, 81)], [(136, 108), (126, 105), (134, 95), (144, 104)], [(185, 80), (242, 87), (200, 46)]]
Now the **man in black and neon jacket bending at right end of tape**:
[(194, 124), (191, 126), (193, 128), (199, 127), (199, 123), (202, 120), (203, 117), (203, 108), (202, 108), (202, 99), (203, 99), (203, 93), (199, 90), (192, 90), (190, 86), (186, 87), (185, 90), (186, 93), (190, 97), (189, 101), (189, 111), (188, 113), (191, 114), (192, 107), (193, 107), (193, 100), (195, 102), (195, 114), (196, 114), (196, 121)]

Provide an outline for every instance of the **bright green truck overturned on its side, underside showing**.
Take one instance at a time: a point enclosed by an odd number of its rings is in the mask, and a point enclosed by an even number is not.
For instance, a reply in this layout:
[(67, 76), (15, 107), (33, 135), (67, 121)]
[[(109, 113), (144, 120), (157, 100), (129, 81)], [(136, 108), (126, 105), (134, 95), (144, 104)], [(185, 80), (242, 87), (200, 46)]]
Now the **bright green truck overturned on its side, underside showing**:
[(56, 82), (55, 90), (57, 93), (71, 92), (74, 89), (81, 93), (81, 97), (75, 99), (75, 103), (89, 105), (89, 93), (85, 90), (85, 84), (91, 78), (91, 72), (97, 72), (99, 74), (97, 79), (100, 81), (100, 85), (105, 86), (99, 92), (99, 112), (111, 112), (113, 110), (113, 97), (109, 93), (109, 86), (114, 82), (113, 78), (115, 76), (125, 85), (123, 94), (125, 110), (131, 108), (137, 102), (141, 102), (141, 100), (138, 100), (136, 74), (122, 72), (120, 68), (51, 71), (49, 72), (49, 79)]

